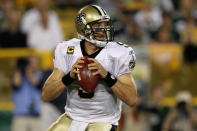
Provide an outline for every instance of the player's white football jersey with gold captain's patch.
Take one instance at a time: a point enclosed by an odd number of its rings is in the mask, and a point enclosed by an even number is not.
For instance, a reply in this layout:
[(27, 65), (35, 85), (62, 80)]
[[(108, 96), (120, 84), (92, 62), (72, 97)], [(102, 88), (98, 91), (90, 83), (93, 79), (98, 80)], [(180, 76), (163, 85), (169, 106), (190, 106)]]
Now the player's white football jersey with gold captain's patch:
[[(79, 39), (71, 39), (57, 45), (54, 67), (69, 73), (73, 64), (85, 54), (84, 44)], [(90, 56), (89, 56), (90, 57)], [(109, 42), (95, 58), (113, 76), (129, 73), (135, 66), (135, 53), (131, 47), (118, 42)], [(108, 122), (118, 125), (121, 115), (121, 101), (103, 80), (94, 93), (84, 92), (77, 81), (67, 88), (66, 114), (83, 122)]]

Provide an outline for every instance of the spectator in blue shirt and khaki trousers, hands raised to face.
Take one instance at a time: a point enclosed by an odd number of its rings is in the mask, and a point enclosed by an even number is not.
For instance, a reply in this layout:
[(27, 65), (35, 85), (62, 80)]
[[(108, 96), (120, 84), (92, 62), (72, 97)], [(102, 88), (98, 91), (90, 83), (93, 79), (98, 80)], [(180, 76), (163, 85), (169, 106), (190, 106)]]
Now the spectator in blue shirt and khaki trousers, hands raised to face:
[(37, 85), (41, 74), (37, 58), (20, 58), (12, 77), (14, 118), (12, 131), (42, 131), (40, 118), (40, 90)]

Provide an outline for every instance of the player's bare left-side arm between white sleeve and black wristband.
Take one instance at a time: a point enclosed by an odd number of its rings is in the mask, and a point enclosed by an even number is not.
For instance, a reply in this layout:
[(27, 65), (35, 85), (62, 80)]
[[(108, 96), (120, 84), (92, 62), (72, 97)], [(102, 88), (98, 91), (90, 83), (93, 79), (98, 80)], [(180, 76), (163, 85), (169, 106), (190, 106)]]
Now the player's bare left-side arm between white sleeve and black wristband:
[(52, 74), (46, 80), (42, 88), (42, 99), (44, 101), (50, 101), (58, 97), (66, 88), (62, 82), (64, 72), (54, 68)]

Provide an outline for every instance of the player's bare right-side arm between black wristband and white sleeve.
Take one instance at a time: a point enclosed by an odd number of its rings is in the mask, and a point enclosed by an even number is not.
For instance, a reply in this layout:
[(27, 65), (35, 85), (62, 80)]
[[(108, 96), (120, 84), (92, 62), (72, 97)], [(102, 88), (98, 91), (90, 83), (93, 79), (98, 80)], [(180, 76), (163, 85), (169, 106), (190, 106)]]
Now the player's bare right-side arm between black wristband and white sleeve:
[(132, 78), (124, 76), (118, 79), (116, 84), (112, 87), (113, 92), (119, 97), (123, 102), (129, 106), (134, 106), (137, 102), (137, 90), (135, 82)]

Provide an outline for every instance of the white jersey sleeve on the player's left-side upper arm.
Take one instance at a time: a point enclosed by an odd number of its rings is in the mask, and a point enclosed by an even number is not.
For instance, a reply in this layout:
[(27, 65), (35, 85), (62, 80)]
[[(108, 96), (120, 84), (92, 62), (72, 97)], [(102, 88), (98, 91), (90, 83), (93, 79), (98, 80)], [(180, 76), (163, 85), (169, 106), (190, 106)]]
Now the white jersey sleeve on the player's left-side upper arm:
[(65, 72), (66, 70), (65, 59), (62, 52), (61, 43), (58, 44), (55, 48), (54, 56), (53, 56), (53, 65), (54, 68), (57, 68), (63, 72)]

